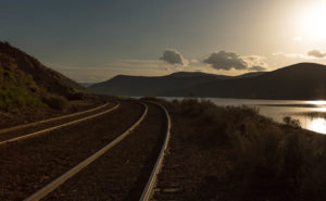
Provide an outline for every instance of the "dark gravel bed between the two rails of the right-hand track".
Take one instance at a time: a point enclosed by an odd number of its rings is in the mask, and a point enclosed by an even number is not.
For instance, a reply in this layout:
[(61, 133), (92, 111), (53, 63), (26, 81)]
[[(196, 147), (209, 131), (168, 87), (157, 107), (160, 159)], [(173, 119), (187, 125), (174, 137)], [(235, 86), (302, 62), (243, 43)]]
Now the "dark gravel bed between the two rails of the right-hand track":
[(165, 145), (166, 115), (148, 103), (148, 114), (133, 134), (42, 200), (139, 200)]

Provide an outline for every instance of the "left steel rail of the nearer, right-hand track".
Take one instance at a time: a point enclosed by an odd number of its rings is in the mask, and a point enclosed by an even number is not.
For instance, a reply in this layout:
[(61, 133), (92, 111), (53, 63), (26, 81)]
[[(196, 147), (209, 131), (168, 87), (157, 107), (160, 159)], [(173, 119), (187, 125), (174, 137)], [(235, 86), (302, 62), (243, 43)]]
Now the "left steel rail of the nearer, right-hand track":
[(143, 103), (140, 103), (143, 105), (145, 110), (142, 115), (138, 118), (138, 121), (126, 131), (124, 131), (122, 135), (120, 135), (117, 138), (115, 138), (113, 141), (111, 141), (108, 146), (96, 152), (95, 154), (90, 155), (86, 160), (84, 160), (82, 163), (78, 165), (74, 166), (71, 168), (68, 172), (64, 173), (43, 188), (39, 189), (28, 198), (26, 198), (24, 201), (38, 201), (42, 198), (45, 198), (48, 193), (53, 191), (55, 188), (58, 188), (60, 185), (65, 183), (68, 178), (73, 177), (76, 175), (78, 172), (80, 172), (84, 167), (92, 163), (95, 160), (97, 160), (99, 156), (104, 154), (109, 149), (113, 148), (115, 145), (117, 145), (120, 141), (122, 141), (124, 138), (126, 138), (146, 117), (147, 112), (148, 112), (148, 106)]

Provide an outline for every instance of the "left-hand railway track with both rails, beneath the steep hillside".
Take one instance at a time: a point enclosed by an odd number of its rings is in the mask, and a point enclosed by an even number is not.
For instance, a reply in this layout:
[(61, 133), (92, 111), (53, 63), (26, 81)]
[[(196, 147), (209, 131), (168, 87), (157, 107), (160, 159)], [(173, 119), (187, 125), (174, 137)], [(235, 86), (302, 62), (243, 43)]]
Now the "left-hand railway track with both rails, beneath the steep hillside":
[(112, 106), (110, 103), (105, 103), (87, 111), (2, 129), (0, 130), (0, 146), (32, 138), (59, 128), (63, 128), (65, 126), (91, 120), (93, 117), (110, 113), (116, 110), (118, 106), (120, 103), (116, 103), (114, 106)]

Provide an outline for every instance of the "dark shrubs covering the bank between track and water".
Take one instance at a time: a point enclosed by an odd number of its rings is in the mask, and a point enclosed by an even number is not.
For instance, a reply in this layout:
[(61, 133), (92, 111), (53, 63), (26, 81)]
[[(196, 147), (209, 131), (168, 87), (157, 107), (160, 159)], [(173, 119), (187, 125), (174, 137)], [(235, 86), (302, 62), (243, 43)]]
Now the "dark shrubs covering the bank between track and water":
[(248, 106), (221, 108), (198, 99), (161, 102), (178, 120), (175, 125), (183, 124), (175, 135), (184, 146), (229, 149), (225, 168), (230, 171), (221, 181), (231, 184), (224, 191), (227, 199), (326, 200), (326, 136), (300, 129), (291, 117), (284, 118), (285, 127)]

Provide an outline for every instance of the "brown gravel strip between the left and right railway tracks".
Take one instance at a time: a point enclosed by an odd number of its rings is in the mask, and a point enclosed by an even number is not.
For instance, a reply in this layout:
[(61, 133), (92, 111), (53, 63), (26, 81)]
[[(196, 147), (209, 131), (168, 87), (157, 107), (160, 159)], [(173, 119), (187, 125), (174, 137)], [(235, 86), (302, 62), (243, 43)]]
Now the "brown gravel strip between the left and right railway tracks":
[(129, 128), (141, 104), (121, 101), (113, 112), (0, 146), (0, 200), (23, 200), (51, 183)]

